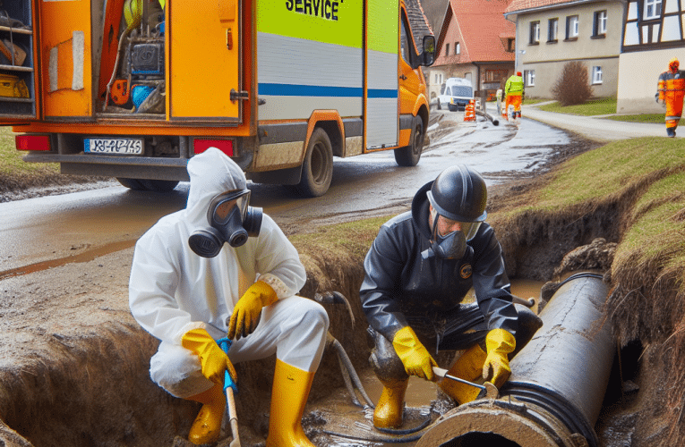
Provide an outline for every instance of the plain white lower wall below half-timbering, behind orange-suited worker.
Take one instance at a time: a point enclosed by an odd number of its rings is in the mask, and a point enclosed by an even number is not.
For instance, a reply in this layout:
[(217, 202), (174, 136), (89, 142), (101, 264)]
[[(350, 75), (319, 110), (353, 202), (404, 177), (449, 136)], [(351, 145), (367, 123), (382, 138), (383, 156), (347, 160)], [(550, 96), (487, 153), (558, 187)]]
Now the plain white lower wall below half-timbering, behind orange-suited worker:
[(659, 75), (668, 70), (668, 61), (677, 57), (685, 69), (685, 48), (636, 51), (621, 54), (618, 114), (661, 114), (665, 107), (656, 104), (655, 93)]

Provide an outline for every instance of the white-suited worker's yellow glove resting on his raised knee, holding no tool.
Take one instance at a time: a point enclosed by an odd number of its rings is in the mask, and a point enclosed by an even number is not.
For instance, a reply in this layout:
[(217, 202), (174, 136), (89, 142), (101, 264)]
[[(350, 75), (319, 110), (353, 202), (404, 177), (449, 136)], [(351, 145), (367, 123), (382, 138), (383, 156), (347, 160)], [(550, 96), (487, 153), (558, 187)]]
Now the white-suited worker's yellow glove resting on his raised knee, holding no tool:
[(273, 304), (278, 299), (276, 291), (263, 281), (253, 283), (238, 299), (228, 323), (228, 338), (239, 340), (253, 333), (260, 323), (261, 308)]

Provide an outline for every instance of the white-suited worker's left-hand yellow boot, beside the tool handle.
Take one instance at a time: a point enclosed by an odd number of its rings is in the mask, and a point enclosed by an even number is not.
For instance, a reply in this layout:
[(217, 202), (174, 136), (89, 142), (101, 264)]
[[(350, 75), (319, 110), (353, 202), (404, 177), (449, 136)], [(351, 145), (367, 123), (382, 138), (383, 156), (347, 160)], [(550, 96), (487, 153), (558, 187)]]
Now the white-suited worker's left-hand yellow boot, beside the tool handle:
[(204, 404), (195, 417), (188, 434), (188, 441), (196, 445), (214, 443), (218, 440), (221, 431), (221, 419), (226, 410), (226, 396), (224, 396), (223, 386), (215, 384), (206, 392), (195, 394), (188, 399)]

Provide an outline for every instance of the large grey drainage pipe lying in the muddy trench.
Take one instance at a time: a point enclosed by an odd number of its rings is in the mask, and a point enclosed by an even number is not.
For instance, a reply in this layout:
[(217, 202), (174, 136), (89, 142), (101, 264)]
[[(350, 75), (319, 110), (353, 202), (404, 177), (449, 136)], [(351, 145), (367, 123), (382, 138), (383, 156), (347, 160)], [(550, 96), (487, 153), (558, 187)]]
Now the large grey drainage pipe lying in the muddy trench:
[(597, 447), (615, 353), (603, 325), (606, 295), (600, 275), (570, 276), (540, 313), (543, 327), (511, 360), (500, 397), (450, 410), (416, 447)]

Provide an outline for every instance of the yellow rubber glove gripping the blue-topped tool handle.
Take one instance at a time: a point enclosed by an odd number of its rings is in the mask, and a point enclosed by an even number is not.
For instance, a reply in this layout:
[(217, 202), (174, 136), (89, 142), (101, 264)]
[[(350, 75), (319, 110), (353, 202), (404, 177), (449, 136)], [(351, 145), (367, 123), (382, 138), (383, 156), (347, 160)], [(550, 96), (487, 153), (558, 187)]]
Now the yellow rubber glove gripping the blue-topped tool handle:
[(218, 347), (217, 342), (204, 329), (193, 329), (184, 333), (181, 344), (186, 350), (192, 350), (200, 358), (202, 375), (215, 384), (224, 383), (224, 371), (228, 370), (237, 384), (235, 368), (226, 352)]

